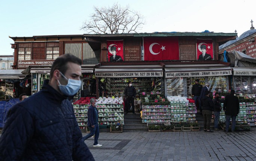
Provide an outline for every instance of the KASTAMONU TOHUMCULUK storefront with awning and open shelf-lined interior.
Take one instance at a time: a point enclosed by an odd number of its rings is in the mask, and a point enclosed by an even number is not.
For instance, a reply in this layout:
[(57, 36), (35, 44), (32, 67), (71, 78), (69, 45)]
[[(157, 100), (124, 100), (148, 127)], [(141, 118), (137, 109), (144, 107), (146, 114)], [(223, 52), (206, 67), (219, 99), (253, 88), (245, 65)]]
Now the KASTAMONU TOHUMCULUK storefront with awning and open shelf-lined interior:
[(128, 81), (133, 82), (137, 97), (151, 92), (164, 92), (161, 65), (103, 65), (95, 68), (99, 96), (124, 96)]

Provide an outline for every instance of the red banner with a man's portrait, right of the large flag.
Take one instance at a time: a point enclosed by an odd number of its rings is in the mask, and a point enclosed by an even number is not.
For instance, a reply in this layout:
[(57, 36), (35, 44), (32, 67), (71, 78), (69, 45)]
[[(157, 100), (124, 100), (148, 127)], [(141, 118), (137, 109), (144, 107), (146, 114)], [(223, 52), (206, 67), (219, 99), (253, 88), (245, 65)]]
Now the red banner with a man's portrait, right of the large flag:
[(197, 60), (213, 60), (213, 40), (197, 39), (196, 40), (196, 58)]

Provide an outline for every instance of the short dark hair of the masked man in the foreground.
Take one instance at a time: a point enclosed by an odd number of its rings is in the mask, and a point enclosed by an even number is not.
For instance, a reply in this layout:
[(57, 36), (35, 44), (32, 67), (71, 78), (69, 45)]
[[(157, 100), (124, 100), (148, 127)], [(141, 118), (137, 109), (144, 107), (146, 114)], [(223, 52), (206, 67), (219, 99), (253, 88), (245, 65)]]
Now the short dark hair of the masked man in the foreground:
[(50, 72), (50, 79), (52, 78), (53, 73), (56, 69), (58, 69), (62, 74), (65, 75), (65, 73), (68, 69), (68, 66), (67, 66), (68, 62), (82, 65), (82, 60), (77, 58), (74, 55), (70, 55), (70, 54), (61, 55), (52, 64), (52, 68), (51, 68), (51, 72)]

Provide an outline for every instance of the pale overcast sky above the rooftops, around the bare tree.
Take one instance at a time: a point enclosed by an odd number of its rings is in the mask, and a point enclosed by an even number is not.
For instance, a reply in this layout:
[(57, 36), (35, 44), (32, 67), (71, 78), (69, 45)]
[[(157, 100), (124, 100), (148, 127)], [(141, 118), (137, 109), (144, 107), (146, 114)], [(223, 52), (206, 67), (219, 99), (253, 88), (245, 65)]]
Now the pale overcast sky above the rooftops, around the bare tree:
[[(117, 0), (3, 0), (0, 4), (0, 55), (12, 55), (11, 37), (86, 34), (82, 22), (94, 6)], [(144, 16), (138, 32), (213, 32), (238, 36), (256, 27), (256, 0), (120, 0)]]

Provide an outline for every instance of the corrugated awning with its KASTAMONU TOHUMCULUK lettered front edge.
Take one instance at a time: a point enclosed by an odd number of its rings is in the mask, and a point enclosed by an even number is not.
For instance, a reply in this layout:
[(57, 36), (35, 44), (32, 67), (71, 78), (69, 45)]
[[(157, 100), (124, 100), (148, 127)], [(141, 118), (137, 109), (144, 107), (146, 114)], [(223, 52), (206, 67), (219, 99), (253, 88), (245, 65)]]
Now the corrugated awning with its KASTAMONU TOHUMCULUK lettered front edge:
[(163, 77), (161, 65), (109, 65), (95, 68), (96, 77)]

